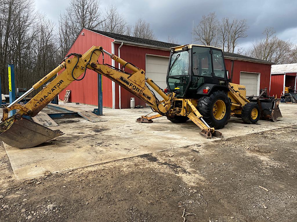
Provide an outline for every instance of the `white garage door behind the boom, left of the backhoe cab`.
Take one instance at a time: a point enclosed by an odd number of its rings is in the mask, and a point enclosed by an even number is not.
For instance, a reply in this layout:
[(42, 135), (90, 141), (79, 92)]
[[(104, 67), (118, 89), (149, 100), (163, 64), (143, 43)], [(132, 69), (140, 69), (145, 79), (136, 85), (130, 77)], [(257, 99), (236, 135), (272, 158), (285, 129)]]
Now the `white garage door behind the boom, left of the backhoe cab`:
[[(168, 61), (169, 58), (165, 57), (146, 56), (146, 77), (152, 79), (161, 89), (165, 89), (167, 87), (166, 75)], [(150, 87), (150, 89), (152, 88)], [(156, 91), (154, 91), (154, 93), (159, 100), (163, 99), (158, 93), (156, 93)]]

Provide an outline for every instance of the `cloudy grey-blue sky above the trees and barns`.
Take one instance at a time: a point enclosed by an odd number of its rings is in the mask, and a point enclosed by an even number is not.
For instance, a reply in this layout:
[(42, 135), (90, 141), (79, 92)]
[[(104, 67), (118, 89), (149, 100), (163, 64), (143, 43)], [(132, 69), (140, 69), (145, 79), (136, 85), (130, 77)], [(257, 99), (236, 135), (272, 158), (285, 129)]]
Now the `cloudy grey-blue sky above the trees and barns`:
[[(156, 37), (166, 41), (170, 35), (180, 44), (192, 43), (192, 23), (197, 25), (202, 15), (215, 12), (219, 19), (223, 17), (247, 19), (248, 37), (241, 39), (241, 46), (248, 47), (253, 40), (263, 37), (267, 26), (274, 27), (283, 40), (297, 44), (297, 1), (295, 0), (101, 0), (101, 10), (114, 3), (129, 23), (142, 16), (151, 24)], [(36, 0), (36, 7), (48, 18), (58, 22), (58, 15), (69, 4), (69, 0)]]

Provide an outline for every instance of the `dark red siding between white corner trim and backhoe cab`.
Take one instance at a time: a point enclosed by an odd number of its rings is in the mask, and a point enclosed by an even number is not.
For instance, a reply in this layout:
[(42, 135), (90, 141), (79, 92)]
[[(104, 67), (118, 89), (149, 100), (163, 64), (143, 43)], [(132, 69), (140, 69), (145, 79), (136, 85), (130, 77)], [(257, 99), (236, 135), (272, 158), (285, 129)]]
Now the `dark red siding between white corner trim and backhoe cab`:
[[(115, 44), (115, 54), (118, 55), (119, 44)], [(136, 47), (130, 45), (123, 45), (120, 49), (121, 58), (127, 62), (131, 62), (140, 69), (146, 70), (146, 54), (158, 55), (158, 56), (169, 56), (169, 51), (149, 49), (143, 47)], [(115, 65), (119, 67), (118, 63)], [(127, 72), (132, 72), (130, 69), (125, 69)], [(121, 87), (121, 108), (130, 108), (130, 98), (135, 97), (135, 105), (145, 106), (145, 102), (140, 100), (138, 97), (128, 92)], [(116, 84), (116, 109), (119, 108), (119, 85)]]

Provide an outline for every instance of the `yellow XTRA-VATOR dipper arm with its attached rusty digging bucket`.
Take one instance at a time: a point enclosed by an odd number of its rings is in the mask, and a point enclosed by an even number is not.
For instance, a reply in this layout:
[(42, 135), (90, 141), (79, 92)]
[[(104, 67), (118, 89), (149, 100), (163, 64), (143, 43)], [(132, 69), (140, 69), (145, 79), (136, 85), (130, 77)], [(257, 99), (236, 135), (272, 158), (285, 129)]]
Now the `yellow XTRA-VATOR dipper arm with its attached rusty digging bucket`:
[[(34, 84), (23, 96), (4, 108), (2, 122), (0, 123), (0, 139), (13, 147), (30, 148), (62, 135), (63, 132), (59, 130), (51, 130), (40, 124), (34, 123), (33, 121), (27, 120), (26, 118), (22, 118), (22, 116), (37, 115), (40, 110), (42, 110), (70, 83), (75, 79), (78, 79), (81, 74), (85, 73), (87, 67), (91, 68), (89, 64), (97, 61), (100, 53), (99, 47), (93, 46), (83, 55), (74, 54), (75, 56), (73, 58), (69, 58), (68, 56), (52, 72)], [(61, 72), (59, 76), (53, 79), (28, 103), (24, 106), (18, 104), (18, 102), (25, 96), (39, 88), (64, 68), (65, 70)], [(8, 112), (10, 110), (18, 110), (18, 112), (8, 118)]]

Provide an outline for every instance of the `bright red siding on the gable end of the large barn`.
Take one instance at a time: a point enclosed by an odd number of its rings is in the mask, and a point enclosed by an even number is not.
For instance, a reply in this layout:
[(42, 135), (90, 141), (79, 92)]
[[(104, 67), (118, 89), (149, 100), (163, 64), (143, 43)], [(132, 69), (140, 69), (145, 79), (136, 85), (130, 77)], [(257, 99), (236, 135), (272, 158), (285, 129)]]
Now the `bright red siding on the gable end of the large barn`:
[[(111, 52), (111, 42), (113, 42), (114, 39), (102, 36), (87, 29), (83, 29), (82, 32), (84, 32), (84, 35), (79, 34), (78, 38), (75, 40), (72, 47), (70, 48), (68, 54), (83, 54), (93, 45), (102, 46), (106, 51)], [(98, 61), (99, 63), (102, 63), (102, 56), (100, 56)], [(104, 62), (111, 65), (111, 58), (109, 56), (105, 56)], [(85, 78), (81, 81), (73, 81), (65, 90), (63, 90), (59, 94), (59, 98), (64, 99), (66, 90), (71, 90), (69, 102), (98, 105), (97, 88), (97, 73), (87, 69)], [(102, 96), (103, 106), (112, 107), (111, 80), (104, 76), (102, 76)]]

